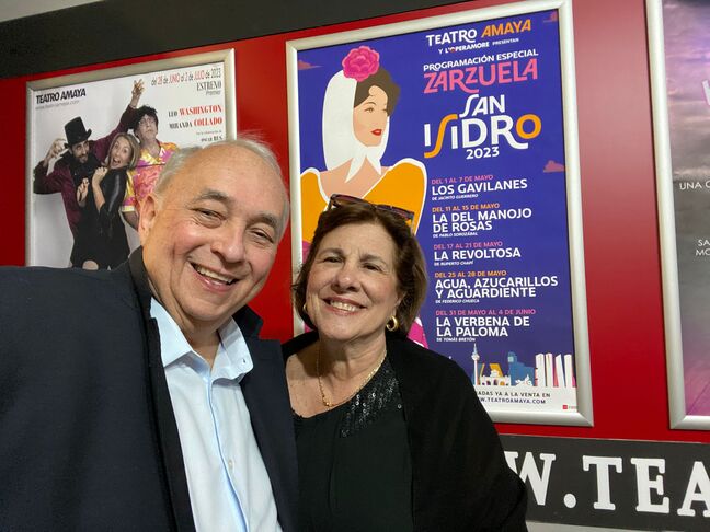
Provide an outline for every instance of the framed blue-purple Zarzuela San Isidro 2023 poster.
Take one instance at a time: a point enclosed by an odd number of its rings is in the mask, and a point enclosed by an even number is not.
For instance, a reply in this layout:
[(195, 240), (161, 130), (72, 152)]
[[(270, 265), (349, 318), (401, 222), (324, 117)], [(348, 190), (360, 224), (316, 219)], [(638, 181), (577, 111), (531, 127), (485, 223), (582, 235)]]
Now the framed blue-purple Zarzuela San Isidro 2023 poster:
[(295, 265), (334, 193), (413, 211), (430, 284), (410, 337), (500, 421), (592, 420), (570, 9), (287, 44)]

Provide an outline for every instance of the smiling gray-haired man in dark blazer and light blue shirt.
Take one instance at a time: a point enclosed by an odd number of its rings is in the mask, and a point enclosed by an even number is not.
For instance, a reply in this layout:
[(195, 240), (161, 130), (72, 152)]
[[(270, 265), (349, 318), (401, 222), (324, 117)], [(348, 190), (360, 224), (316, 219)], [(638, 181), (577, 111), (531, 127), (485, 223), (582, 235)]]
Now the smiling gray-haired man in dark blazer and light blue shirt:
[(280, 349), (247, 307), (287, 217), (262, 144), (192, 148), (119, 268), (0, 268), (0, 530), (295, 530)]

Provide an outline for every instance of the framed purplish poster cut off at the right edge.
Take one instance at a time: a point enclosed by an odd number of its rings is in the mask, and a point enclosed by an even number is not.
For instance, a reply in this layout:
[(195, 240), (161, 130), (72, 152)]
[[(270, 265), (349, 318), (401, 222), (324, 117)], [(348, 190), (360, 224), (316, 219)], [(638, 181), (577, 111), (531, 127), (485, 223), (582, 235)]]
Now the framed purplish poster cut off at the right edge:
[(710, 5), (690, 0), (649, 0), (646, 7), (671, 425), (707, 430)]

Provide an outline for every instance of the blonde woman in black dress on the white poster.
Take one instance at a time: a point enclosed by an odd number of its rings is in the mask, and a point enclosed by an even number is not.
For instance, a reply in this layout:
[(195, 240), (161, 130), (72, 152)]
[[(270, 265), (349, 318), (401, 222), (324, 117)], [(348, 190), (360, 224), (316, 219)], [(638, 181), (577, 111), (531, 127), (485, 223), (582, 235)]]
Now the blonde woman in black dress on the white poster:
[(104, 165), (95, 170), (91, 182), (85, 178), (77, 187), (82, 215), (71, 264), (81, 264), (84, 269), (113, 269), (128, 258), (128, 240), (118, 209), (126, 195), (127, 172), (135, 167), (139, 151), (133, 135), (116, 135)]

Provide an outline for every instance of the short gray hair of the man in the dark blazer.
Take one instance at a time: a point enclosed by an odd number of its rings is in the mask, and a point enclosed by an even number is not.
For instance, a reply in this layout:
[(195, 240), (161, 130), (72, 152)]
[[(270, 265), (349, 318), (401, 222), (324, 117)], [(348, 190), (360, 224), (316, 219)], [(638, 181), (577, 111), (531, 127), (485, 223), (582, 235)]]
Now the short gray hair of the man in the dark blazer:
[(286, 225), (288, 224), (288, 217), (290, 215), (288, 193), (286, 192), (286, 185), (284, 184), (284, 176), (282, 174), (280, 166), (278, 165), (276, 155), (268, 147), (268, 144), (266, 144), (265, 142), (263, 142), (262, 140), (255, 137), (242, 135), (239, 138), (233, 140), (220, 140), (219, 142), (213, 142), (211, 144), (207, 144), (204, 147), (192, 146), (175, 151), (175, 153), (172, 154), (172, 157), (165, 164), (163, 171), (160, 173), (158, 181), (156, 182), (156, 187), (153, 188), (154, 194), (158, 197), (162, 196), (162, 194), (170, 185), (170, 182), (172, 181), (173, 176), (182, 170), (182, 167), (185, 165), (185, 163), (190, 158), (192, 158), (193, 155), (195, 155), (196, 153), (201, 152), (206, 148), (211, 148), (215, 146), (229, 146), (233, 148), (243, 148), (245, 150), (249, 150), (252, 153), (254, 153), (256, 157), (259, 157), (263, 162), (265, 162), (268, 165), (268, 167), (271, 167), (274, 171), (274, 173), (278, 176), (284, 193), (284, 211), (282, 212), (282, 219), (279, 220), (280, 227), (278, 228), (279, 230), (278, 236), (282, 238), (284, 235), (284, 232), (286, 231)]

